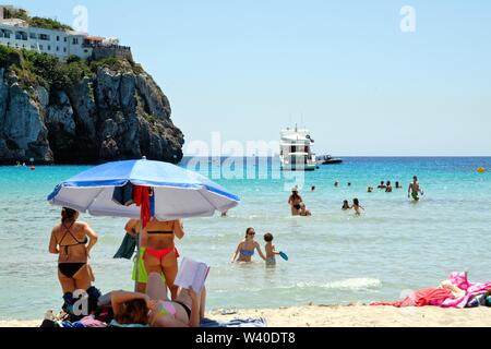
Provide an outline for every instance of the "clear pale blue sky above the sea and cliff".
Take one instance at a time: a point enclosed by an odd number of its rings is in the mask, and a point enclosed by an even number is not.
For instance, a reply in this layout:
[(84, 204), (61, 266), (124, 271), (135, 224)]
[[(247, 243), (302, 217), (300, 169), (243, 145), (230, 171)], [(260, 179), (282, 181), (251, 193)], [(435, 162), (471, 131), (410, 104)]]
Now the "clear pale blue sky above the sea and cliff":
[[(370, 3), (369, 3), (370, 2)], [(16, 1), (118, 36), (169, 97), (187, 141), (275, 141), (318, 154), (491, 155), (490, 1)], [(403, 33), (403, 5), (416, 33)]]

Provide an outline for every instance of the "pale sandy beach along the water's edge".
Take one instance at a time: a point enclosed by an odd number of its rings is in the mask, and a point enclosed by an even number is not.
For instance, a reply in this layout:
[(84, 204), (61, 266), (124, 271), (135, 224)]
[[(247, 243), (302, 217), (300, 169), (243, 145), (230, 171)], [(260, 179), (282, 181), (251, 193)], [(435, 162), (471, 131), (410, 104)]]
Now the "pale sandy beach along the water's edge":
[[(268, 327), (491, 327), (491, 308), (441, 309), (369, 305), (306, 305), (296, 308), (238, 310), (224, 315), (207, 314), (226, 321), (236, 317), (265, 317)], [(231, 313), (231, 312), (230, 312)], [(39, 320), (0, 321), (0, 327), (36, 327)]]

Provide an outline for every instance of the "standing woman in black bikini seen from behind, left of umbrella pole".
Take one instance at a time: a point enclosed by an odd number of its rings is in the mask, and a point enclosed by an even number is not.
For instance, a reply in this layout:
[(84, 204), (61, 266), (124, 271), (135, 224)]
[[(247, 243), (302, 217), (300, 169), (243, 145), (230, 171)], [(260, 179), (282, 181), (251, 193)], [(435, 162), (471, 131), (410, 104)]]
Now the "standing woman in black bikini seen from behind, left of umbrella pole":
[(83, 221), (76, 221), (79, 213), (64, 207), (61, 224), (51, 232), (49, 252), (58, 254), (58, 278), (63, 289), (63, 298), (75, 290), (88, 290), (94, 280), (87, 263), (89, 252), (97, 242), (97, 233)]

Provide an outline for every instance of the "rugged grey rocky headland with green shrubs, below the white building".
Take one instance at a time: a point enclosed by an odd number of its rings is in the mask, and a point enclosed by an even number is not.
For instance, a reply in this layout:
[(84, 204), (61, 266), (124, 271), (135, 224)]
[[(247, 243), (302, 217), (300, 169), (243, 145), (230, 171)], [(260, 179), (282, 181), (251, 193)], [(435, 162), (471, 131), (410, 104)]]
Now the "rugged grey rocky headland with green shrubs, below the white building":
[(65, 62), (0, 46), (0, 164), (179, 163), (169, 100), (132, 61)]

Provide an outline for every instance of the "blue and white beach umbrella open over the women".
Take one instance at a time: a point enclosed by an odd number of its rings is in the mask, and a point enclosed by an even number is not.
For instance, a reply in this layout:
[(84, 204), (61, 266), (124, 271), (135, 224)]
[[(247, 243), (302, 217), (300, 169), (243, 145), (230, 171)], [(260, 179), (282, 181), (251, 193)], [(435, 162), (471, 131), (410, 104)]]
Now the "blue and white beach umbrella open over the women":
[(140, 218), (140, 207), (112, 201), (115, 188), (154, 189), (155, 217), (170, 220), (208, 217), (236, 207), (240, 198), (206, 177), (172, 164), (142, 160), (108, 163), (57, 185), (48, 201), (93, 216)]

